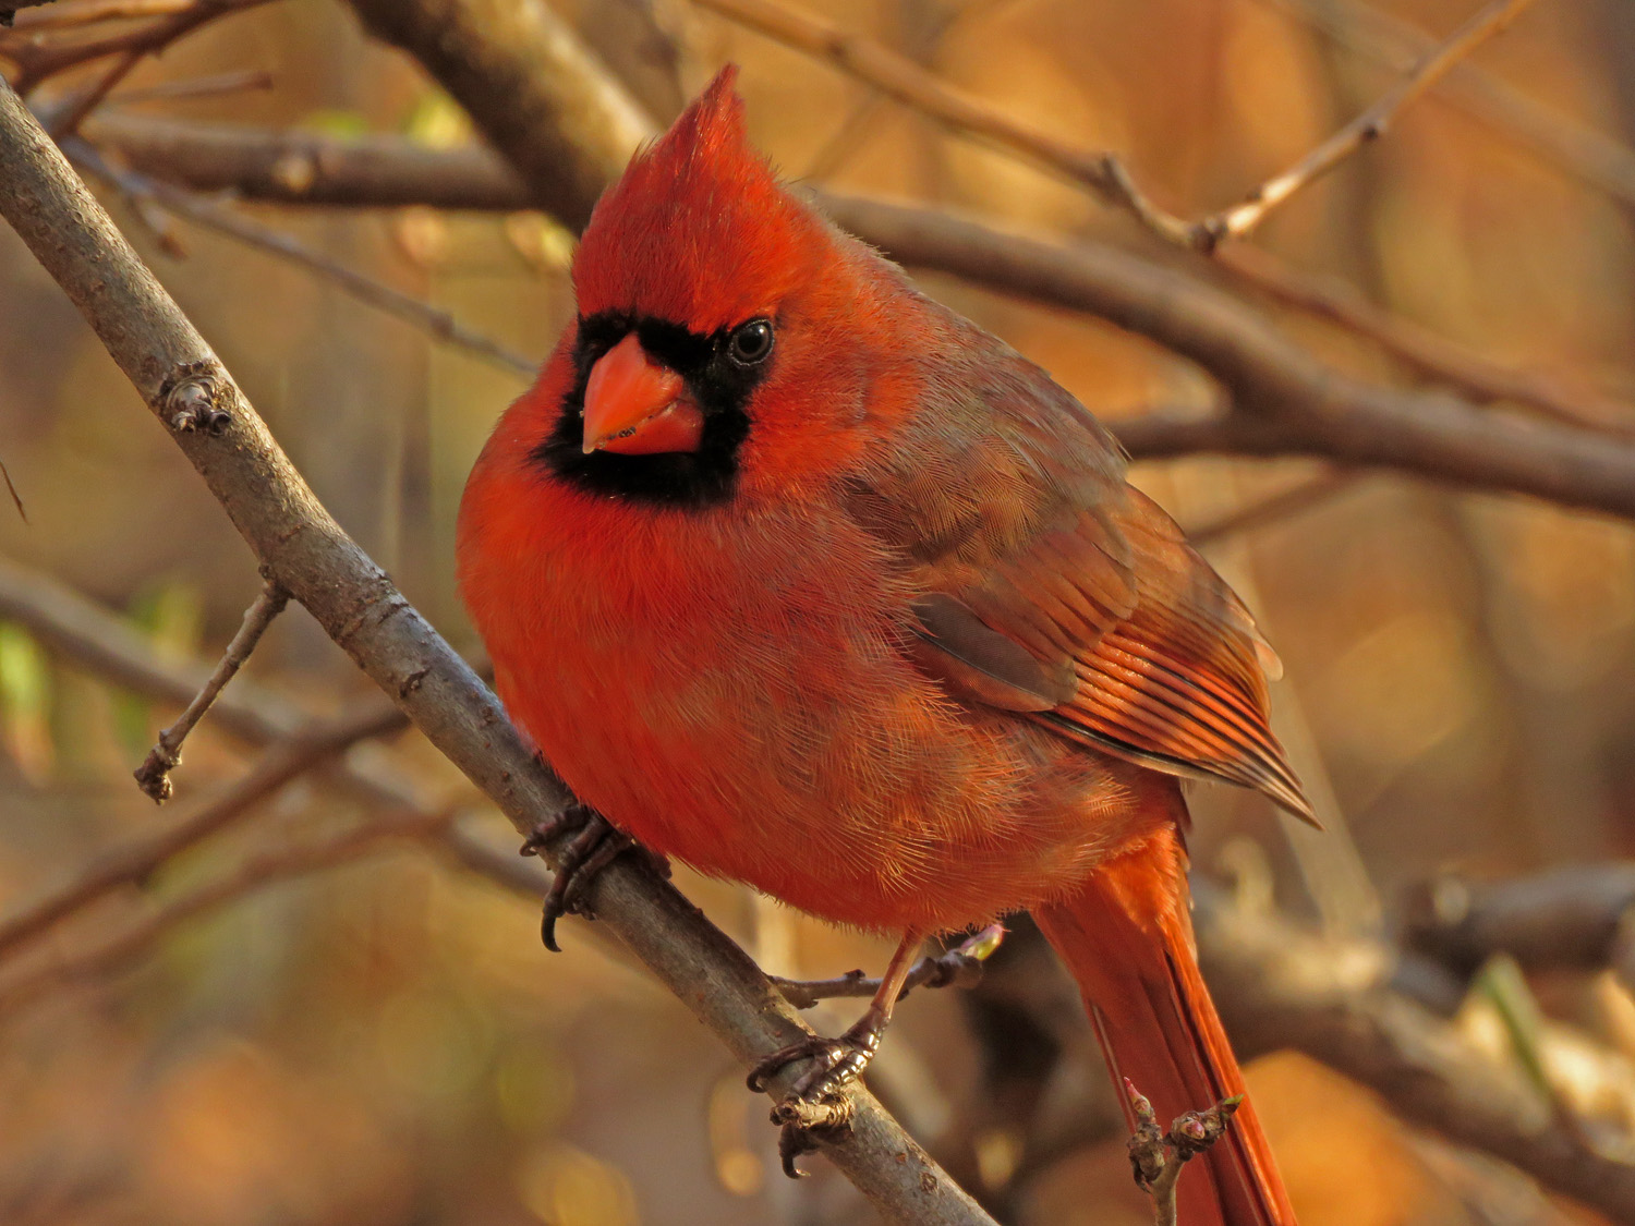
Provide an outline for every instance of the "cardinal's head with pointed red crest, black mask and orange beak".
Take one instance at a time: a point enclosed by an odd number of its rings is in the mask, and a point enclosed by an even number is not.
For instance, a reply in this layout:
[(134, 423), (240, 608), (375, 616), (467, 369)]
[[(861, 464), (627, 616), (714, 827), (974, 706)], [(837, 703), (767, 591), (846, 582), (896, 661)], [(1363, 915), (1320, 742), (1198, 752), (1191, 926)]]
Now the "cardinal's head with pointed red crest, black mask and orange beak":
[(860, 417), (855, 245), (750, 147), (734, 77), (631, 160), (574, 257), (572, 379), (538, 458), (589, 490), (708, 505), (746, 466), (786, 485)]

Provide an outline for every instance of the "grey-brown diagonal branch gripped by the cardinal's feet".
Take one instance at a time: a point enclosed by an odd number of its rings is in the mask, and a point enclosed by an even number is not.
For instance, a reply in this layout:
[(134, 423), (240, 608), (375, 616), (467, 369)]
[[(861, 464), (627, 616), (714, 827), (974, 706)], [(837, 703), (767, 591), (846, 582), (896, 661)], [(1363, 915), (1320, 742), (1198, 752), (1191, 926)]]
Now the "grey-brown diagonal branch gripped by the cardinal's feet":
[[(28, 108), (0, 83), (0, 214), (67, 291), (114, 361), (204, 477), (268, 579), (281, 584), (517, 826), (569, 801), (497, 700), (317, 502), (204, 338), (141, 263)], [(203, 387), (217, 430), (177, 430), (172, 396)], [(760, 969), (634, 860), (598, 878), (595, 909), (746, 1064), (809, 1033)], [(777, 1079), (773, 1094), (788, 1090)], [(886, 1215), (991, 1223), (867, 1094), (852, 1133), (826, 1146)]]

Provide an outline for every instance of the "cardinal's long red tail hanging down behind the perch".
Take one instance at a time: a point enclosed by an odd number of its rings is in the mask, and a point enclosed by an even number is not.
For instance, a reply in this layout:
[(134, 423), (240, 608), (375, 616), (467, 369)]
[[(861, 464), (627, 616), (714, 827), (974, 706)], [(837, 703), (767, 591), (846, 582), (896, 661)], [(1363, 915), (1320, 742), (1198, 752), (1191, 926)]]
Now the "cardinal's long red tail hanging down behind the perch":
[[(1174, 829), (1033, 917), (1079, 982), (1120, 1100), (1128, 1077), (1167, 1126), (1182, 1112), (1243, 1094), (1192, 951), (1185, 853)], [(1295, 1226), (1248, 1098), (1226, 1136), (1187, 1162), (1176, 1192), (1180, 1226)]]

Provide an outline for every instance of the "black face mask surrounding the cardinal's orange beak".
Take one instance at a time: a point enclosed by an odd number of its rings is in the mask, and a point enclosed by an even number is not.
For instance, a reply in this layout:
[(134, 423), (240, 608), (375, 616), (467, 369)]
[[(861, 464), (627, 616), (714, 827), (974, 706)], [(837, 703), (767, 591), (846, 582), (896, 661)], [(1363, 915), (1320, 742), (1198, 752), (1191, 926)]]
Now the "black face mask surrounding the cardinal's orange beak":
[[(584, 451), (585, 384), (597, 360), (631, 332), (647, 355), (687, 381), (705, 417), (697, 451), (626, 456)], [(579, 320), (574, 347), (574, 386), (562, 397), (549, 436), (533, 459), (553, 476), (605, 497), (664, 507), (713, 507), (732, 497), (737, 453), (749, 436), (749, 394), (772, 366), (741, 366), (728, 356), (729, 329), (708, 337), (649, 315), (600, 312)]]

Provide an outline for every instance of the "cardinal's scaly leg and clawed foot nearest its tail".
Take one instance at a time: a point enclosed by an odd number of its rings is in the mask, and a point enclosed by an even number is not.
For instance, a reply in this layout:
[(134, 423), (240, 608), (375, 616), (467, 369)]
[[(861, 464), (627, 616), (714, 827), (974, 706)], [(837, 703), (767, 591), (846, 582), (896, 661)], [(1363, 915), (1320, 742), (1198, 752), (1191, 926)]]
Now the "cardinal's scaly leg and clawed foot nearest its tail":
[(924, 933), (907, 932), (891, 955), (891, 964), (880, 978), (880, 989), (863, 1015), (839, 1038), (811, 1038), (780, 1048), (760, 1061), (749, 1074), (749, 1089), (762, 1094), (767, 1081), (785, 1064), (798, 1059), (816, 1061), (803, 1072), (788, 1095), (772, 1108), (772, 1123), (782, 1126), (778, 1136), (778, 1154), (783, 1159), (783, 1174), (800, 1179), (804, 1172), (796, 1169), (795, 1159), (816, 1149), (814, 1131), (844, 1128), (850, 1123), (849, 1103), (840, 1098), (840, 1090), (863, 1076), (875, 1053), (880, 1051), (880, 1036), (891, 1022), (891, 1010), (903, 994), (909, 968), (914, 966), (914, 955), (919, 951)]

